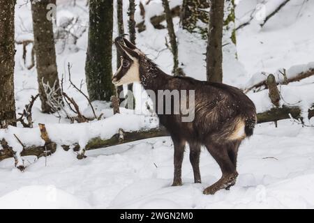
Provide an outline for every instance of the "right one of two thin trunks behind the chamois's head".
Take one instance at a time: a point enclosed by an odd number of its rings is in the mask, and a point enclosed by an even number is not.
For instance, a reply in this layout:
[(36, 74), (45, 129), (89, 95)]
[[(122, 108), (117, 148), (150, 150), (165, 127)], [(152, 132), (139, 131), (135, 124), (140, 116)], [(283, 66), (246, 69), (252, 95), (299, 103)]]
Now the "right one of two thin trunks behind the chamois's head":
[[(135, 22), (135, 0), (129, 0), (129, 7), (128, 7), (128, 31), (130, 33), (130, 42), (134, 45), (136, 44), (136, 30), (135, 30), (136, 22)], [(135, 109), (135, 98), (133, 94), (133, 84), (128, 84), (128, 105), (131, 105), (131, 99), (133, 99), (132, 107), (128, 106), (128, 109)]]

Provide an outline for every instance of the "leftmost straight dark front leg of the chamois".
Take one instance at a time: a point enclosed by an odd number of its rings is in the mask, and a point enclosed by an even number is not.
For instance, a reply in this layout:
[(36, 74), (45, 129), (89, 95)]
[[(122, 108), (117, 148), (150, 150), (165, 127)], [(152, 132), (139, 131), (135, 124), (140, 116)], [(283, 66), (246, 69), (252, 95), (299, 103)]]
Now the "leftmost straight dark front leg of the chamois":
[(184, 158), (186, 141), (178, 137), (172, 137), (172, 141), (174, 145), (174, 178), (172, 186), (181, 186), (181, 167)]

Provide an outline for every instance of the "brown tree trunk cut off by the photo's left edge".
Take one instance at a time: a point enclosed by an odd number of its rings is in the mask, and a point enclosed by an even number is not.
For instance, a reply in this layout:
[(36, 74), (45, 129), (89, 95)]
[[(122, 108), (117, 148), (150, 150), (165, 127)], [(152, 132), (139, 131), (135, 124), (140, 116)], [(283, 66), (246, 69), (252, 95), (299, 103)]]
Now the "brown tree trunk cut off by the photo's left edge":
[(0, 0), (0, 128), (16, 125), (14, 9), (15, 1)]

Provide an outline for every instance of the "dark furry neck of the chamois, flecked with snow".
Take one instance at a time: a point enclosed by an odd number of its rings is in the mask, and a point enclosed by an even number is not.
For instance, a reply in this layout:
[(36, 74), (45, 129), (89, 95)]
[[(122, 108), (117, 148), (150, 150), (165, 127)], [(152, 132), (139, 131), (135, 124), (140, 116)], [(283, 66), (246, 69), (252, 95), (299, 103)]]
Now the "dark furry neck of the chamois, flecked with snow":
[(171, 76), (160, 70), (156, 63), (146, 57), (140, 60), (140, 82), (145, 90), (163, 89)]

